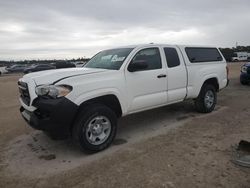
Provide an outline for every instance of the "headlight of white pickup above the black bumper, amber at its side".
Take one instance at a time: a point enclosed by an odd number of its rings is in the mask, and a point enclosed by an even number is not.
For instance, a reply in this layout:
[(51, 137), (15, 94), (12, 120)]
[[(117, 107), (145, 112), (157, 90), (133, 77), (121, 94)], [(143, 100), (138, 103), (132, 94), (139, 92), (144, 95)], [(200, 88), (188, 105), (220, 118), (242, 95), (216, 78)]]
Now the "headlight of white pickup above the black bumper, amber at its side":
[(49, 96), (52, 98), (64, 97), (72, 91), (72, 87), (68, 85), (42, 85), (36, 87), (38, 96)]

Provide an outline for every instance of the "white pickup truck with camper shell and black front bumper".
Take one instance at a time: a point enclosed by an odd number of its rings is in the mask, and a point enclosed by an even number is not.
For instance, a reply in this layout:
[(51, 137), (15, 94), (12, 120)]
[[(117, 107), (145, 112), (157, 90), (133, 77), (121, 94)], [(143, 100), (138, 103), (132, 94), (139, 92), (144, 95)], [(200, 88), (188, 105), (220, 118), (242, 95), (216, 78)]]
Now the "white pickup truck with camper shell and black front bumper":
[(97, 152), (112, 143), (121, 116), (187, 99), (198, 112), (213, 111), (227, 75), (215, 47), (126, 46), (101, 51), (83, 68), (25, 75), (18, 81), (20, 111), (35, 129), (71, 135)]

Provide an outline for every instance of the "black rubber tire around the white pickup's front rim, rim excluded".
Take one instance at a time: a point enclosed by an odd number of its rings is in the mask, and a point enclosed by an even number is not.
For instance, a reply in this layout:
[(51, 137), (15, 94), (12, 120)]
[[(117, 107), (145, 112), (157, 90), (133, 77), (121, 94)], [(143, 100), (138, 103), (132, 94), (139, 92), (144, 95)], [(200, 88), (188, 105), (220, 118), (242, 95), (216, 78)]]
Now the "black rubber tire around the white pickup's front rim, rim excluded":
[[(91, 121), (97, 117), (105, 117), (111, 124), (111, 130), (106, 140), (98, 145), (90, 143), (88, 140), (88, 127)], [(95, 153), (102, 151), (110, 146), (116, 136), (117, 116), (107, 106), (101, 104), (92, 104), (84, 107), (78, 114), (72, 129), (72, 137), (74, 142), (80, 146), (83, 151)], [(92, 134), (92, 133), (91, 133)]]

